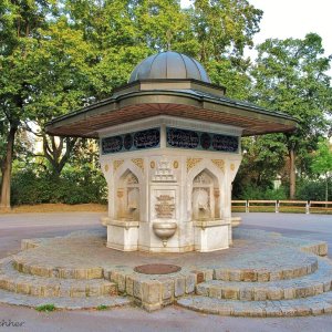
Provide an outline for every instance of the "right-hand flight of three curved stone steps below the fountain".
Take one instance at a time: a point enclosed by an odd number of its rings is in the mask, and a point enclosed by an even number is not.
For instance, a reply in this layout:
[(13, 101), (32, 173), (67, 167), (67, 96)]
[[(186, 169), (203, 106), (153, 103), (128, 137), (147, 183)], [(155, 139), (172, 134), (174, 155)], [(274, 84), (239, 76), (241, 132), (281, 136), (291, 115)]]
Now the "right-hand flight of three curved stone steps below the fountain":
[[(178, 299), (181, 307), (221, 315), (288, 317), (332, 312), (332, 262), (310, 257), (311, 263), (283, 272), (250, 269), (215, 270), (195, 294)], [(262, 276), (266, 276), (262, 278)], [(272, 277), (272, 278), (271, 278)]]

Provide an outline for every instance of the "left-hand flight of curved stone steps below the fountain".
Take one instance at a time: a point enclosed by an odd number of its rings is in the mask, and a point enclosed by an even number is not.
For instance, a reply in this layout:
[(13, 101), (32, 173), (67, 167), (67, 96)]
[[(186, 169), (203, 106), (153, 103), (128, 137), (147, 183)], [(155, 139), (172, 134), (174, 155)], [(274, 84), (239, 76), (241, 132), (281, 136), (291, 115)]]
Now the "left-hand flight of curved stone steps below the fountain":
[[(103, 269), (68, 269), (30, 266), (9, 257), (0, 261), (0, 299), (8, 303), (56, 308), (123, 305), (117, 286), (103, 278)], [(2, 299), (1, 299), (2, 300)]]

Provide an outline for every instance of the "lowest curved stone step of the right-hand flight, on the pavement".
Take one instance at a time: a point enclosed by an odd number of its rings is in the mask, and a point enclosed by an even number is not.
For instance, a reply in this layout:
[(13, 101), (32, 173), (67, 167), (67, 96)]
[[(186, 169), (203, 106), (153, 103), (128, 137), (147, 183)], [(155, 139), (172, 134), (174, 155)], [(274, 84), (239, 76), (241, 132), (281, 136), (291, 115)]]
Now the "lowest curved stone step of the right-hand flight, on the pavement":
[(326, 292), (312, 298), (256, 302), (188, 295), (178, 299), (177, 304), (204, 313), (232, 317), (266, 318), (318, 315), (332, 313), (332, 292)]

